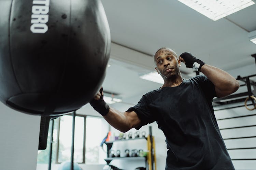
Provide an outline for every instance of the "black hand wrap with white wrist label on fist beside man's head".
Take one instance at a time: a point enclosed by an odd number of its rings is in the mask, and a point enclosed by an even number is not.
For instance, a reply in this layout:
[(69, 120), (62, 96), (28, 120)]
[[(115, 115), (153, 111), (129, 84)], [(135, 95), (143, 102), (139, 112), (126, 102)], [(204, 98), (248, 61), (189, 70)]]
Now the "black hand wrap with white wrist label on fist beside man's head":
[(205, 64), (204, 62), (202, 62), (201, 60), (197, 59), (196, 57), (194, 57), (192, 54), (190, 54), (189, 52), (184, 52), (181, 55), (181, 58), (184, 59), (185, 64), (188, 68), (193, 68), (197, 71), (201, 70), (201, 67)]

